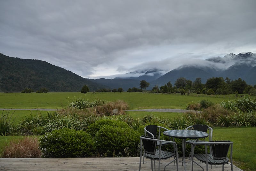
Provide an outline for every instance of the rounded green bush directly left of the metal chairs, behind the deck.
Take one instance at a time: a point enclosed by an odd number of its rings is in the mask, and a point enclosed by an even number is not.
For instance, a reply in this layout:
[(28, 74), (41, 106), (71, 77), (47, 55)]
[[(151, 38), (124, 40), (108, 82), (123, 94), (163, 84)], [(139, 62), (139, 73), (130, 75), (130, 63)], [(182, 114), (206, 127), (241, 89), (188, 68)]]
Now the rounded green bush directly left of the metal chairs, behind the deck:
[(119, 157), (137, 157), (138, 155), (137, 147), (140, 144), (140, 134), (132, 128), (104, 125), (100, 127), (94, 139), (98, 152), (103, 157), (117, 155)]

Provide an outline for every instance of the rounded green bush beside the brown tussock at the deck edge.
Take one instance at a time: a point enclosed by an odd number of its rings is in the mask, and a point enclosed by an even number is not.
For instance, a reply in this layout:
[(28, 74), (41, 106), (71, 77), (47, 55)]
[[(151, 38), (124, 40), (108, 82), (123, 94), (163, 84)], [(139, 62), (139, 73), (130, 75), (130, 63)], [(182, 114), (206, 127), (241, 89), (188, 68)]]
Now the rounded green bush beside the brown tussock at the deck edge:
[(84, 131), (63, 128), (45, 134), (40, 138), (39, 148), (43, 157), (92, 157), (94, 141)]

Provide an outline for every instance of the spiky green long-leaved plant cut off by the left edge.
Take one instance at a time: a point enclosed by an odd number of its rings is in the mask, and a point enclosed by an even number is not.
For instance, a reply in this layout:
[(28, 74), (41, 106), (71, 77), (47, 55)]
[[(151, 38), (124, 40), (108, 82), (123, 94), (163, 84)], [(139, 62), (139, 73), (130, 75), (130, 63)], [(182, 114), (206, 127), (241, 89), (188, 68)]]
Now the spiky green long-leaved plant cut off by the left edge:
[(13, 120), (11, 121), (12, 114), (10, 114), (10, 110), (4, 111), (1, 114), (0, 118), (0, 136), (10, 135), (13, 131)]

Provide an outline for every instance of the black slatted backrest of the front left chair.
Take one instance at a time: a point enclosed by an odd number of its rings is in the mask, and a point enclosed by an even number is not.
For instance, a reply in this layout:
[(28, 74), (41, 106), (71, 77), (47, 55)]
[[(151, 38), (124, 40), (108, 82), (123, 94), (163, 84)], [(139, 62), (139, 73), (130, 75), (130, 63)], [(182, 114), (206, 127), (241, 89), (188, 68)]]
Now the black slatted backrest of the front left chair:
[(153, 140), (145, 139), (145, 138), (150, 138), (150, 139), (157, 139), (157, 138), (151, 137), (151, 136), (141, 136), (141, 138), (140, 138), (143, 148), (144, 148), (144, 151), (148, 154), (155, 154), (157, 141), (153, 141)]

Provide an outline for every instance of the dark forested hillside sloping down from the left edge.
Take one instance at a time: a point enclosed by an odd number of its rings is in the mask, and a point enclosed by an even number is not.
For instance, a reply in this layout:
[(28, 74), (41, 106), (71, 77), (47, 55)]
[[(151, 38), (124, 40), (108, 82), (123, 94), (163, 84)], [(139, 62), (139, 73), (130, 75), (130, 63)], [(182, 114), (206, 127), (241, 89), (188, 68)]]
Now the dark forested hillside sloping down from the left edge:
[(0, 92), (34, 91), (46, 88), (55, 92), (77, 92), (87, 85), (90, 91), (106, 88), (48, 62), (21, 59), (0, 53)]

